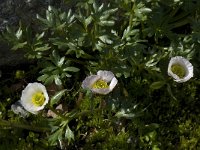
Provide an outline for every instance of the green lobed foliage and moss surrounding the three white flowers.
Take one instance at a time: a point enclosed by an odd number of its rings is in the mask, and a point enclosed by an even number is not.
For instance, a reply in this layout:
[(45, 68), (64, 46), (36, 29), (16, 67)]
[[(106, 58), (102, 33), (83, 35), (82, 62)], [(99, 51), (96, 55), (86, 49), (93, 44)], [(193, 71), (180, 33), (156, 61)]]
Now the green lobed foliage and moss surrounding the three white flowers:
[[(34, 26), (21, 20), (1, 33), (32, 63), (9, 76), (1, 70), (0, 149), (199, 149), (200, 1), (63, 4), (70, 7), (48, 6)], [(167, 75), (174, 56), (194, 66), (186, 83)], [(108, 95), (81, 88), (98, 70), (118, 79)], [(31, 81), (44, 83), (51, 100), (22, 118), (10, 108)]]

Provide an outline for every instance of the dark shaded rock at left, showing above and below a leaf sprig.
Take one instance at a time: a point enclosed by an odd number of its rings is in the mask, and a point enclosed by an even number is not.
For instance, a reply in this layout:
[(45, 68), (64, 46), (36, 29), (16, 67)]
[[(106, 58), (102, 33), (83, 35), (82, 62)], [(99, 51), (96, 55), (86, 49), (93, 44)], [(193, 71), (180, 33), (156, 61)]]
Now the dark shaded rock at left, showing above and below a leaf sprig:
[[(6, 26), (18, 28), (20, 21), (34, 25), (36, 14), (44, 13), (48, 5), (59, 6), (61, 0), (0, 0), (0, 32)], [(22, 52), (11, 51), (8, 45), (0, 43), (0, 67), (26, 62)]]

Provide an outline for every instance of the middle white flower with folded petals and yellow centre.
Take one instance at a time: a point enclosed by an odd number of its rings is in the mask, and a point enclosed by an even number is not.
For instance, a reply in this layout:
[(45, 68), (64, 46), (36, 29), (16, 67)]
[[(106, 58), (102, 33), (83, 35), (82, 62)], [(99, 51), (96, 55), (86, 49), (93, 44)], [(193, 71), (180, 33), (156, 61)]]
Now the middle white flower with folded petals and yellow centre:
[(99, 70), (97, 75), (91, 75), (85, 78), (82, 83), (82, 88), (90, 89), (94, 93), (106, 95), (114, 89), (117, 82), (118, 80), (111, 71)]

